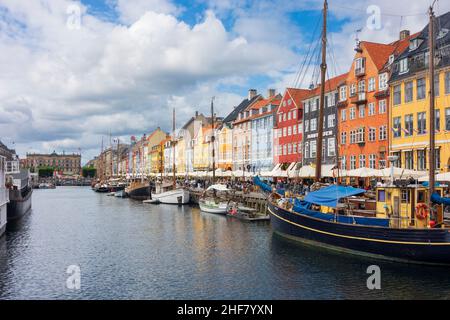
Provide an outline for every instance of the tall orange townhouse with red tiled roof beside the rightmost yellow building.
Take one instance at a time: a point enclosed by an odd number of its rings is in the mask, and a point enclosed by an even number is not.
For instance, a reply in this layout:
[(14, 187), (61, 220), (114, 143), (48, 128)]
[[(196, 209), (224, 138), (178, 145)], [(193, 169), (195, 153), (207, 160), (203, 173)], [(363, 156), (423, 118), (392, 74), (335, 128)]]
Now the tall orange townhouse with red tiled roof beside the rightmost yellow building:
[(409, 42), (409, 33), (390, 44), (361, 41), (345, 84), (339, 86), (339, 157), (343, 169), (383, 169), (388, 157), (389, 70)]

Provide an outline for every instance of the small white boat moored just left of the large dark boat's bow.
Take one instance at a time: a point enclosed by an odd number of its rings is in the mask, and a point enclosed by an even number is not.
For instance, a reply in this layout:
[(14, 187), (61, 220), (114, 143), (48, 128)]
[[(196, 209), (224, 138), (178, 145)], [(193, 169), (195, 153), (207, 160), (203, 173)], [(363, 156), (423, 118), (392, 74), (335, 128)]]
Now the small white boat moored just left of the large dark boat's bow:
[(226, 215), (231, 197), (230, 191), (225, 185), (215, 184), (210, 186), (198, 201), (200, 210), (207, 213)]

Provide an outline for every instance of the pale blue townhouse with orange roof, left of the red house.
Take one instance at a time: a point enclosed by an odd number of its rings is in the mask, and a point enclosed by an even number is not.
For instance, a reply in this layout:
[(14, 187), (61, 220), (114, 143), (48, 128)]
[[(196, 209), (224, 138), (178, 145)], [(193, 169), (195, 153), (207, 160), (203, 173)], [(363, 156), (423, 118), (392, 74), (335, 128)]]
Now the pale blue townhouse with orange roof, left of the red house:
[(249, 107), (251, 123), (250, 171), (257, 174), (273, 169), (273, 132), (282, 96), (269, 89), (266, 99)]

